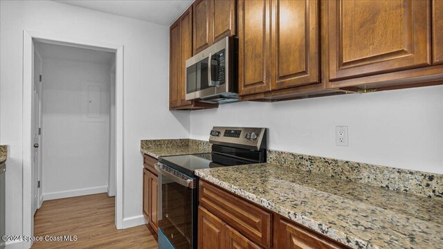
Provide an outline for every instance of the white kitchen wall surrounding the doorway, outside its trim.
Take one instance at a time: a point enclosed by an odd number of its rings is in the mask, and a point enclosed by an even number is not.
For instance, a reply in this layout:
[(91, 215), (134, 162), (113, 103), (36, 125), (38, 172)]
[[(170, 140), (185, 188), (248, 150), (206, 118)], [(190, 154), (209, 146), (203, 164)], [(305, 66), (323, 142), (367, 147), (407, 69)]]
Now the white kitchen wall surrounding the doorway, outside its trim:
[(123, 216), (142, 215), (140, 140), (187, 138), (188, 112), (168, 111), (169, 28), (54, 1), (0, 1), (0, 144), (10, 145), (8, 234), (22, 232), (23, 30), (124, 46)]

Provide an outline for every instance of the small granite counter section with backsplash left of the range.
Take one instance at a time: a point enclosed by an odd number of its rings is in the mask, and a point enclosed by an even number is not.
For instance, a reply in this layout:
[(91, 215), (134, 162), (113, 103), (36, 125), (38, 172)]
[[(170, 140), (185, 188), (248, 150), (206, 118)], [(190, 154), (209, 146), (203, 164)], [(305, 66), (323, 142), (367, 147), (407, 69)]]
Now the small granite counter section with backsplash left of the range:
[(154, 158), (159, 158), (159, 156), (208, 153), (211, 151), (211, 145), (208, 141), (186, 138), (141, 140), (140, 145), (142, 153)]

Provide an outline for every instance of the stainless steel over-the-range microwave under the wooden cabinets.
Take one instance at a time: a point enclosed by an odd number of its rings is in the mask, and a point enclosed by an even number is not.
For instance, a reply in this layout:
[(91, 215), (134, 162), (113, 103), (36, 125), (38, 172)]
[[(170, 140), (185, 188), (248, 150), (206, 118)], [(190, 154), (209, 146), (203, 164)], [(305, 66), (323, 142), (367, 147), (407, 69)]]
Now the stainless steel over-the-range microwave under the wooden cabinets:
[(238, 101), (238, 43), (226, 37), (186, 60), (186, 100)]

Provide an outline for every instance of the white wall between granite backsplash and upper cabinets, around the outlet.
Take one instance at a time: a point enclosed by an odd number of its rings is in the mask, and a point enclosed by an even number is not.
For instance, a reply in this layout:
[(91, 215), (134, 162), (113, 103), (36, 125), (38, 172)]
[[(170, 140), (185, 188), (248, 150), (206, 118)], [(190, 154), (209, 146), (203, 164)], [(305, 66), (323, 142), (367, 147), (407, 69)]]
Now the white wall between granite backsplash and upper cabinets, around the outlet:
[[(192, 111), (191, 138), (213, 126), (269, 128), (269, 148), (443, 174), (443, 86)], [(335, 127), (349, 127), (349, 147)]]

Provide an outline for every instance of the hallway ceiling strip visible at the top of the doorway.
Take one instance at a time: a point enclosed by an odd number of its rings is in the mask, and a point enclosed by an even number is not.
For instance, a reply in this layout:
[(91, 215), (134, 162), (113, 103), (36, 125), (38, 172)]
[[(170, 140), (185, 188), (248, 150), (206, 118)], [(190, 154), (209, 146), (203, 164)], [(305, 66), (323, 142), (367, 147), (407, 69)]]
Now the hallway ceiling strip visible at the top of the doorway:
[(76, 62), (89, 62), (111, 65), (115, 59), (115, 53), (92, 50), (88, 48), (75, 48), (57, 44), (35, 42), (35, 49), (47, 59), (63, 59)]

